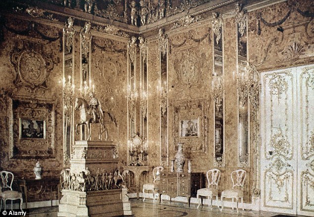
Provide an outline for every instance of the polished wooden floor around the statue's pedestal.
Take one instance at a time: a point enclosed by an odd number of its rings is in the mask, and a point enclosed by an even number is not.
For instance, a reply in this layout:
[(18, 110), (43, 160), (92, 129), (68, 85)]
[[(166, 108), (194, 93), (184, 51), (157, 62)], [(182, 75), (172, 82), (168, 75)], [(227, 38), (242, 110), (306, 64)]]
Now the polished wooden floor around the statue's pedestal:
[[(213, 206), (210, 210), (207, 205), (197, 209), (197, 204), (162, 201), (161, 204), (147, 199), (143, 202), (141, 199), (131, 199), (133, 217), (288, 217), (278, 213), (236, 210), (230, 208), (223, 209), (222, 212)], [(1, 211), (2, 212), (2, 211)], [(30, 209), (29, 217), (57, 217), (58, 207), (44, 207)], [(280, 215), (280, 216), (279, 216)], [(1, 216), (1, 215), (0, 215)]]

